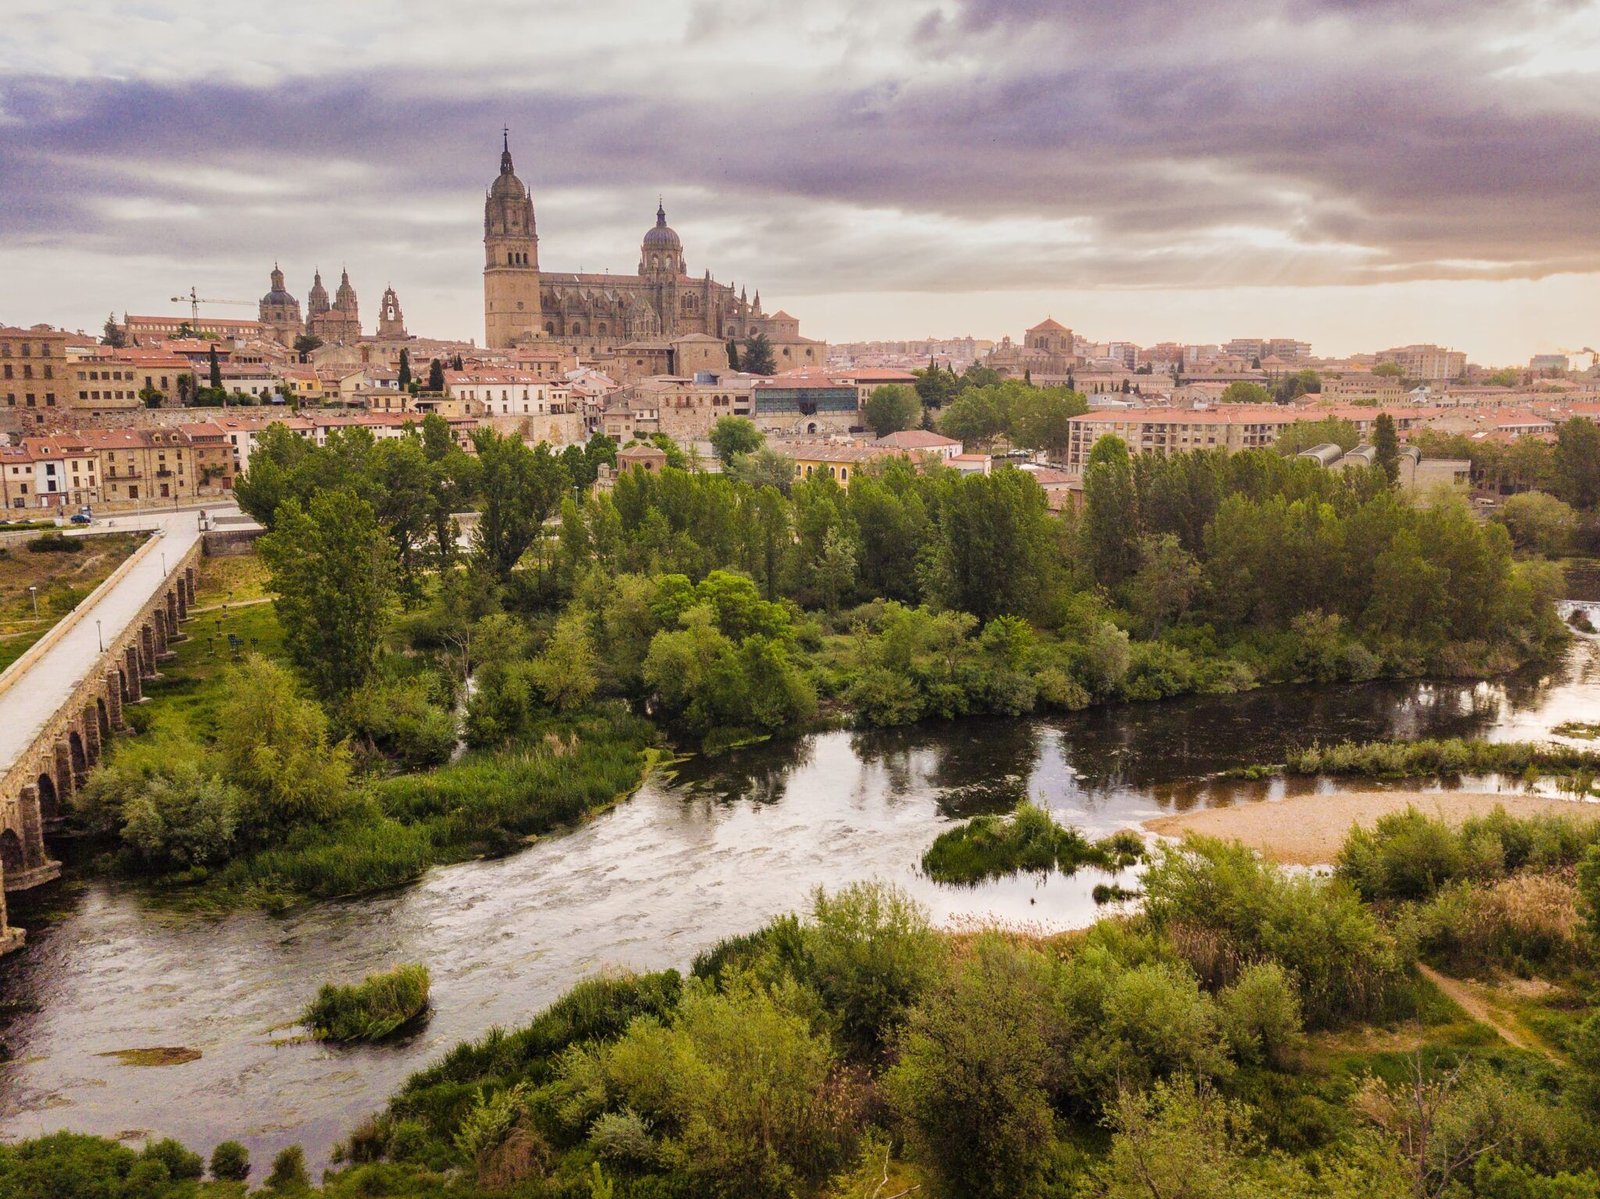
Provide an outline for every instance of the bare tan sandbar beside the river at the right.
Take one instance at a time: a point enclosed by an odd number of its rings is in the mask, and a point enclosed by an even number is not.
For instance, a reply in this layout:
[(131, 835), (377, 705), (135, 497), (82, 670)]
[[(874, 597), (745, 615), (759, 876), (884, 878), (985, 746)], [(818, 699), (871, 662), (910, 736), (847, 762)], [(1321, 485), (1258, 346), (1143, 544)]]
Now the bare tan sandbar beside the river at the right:
[(1350, 824), (1371, 828), (1379, 816), (1402, 812), (1406, 805), (1434, 816), (1443, 816), (1451, 823), (1486, 815), (1496, 807), (1504, 807), (1514, 816), (1566, 812), (1600, 820), (1600, 804), (1579, 804), (1544, 796), (1485, 796), (1459, 791), (1342, 791), (1330, 796), (1294, 796), (1158, 816), (1144, 821), (1144, 829), (1163, 837), (1202, 832), (1208, 837), (1240, 840), (1274, 861), (1320, 866), (1334, 860)]

